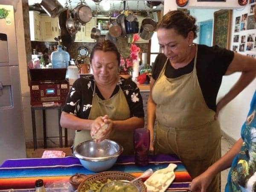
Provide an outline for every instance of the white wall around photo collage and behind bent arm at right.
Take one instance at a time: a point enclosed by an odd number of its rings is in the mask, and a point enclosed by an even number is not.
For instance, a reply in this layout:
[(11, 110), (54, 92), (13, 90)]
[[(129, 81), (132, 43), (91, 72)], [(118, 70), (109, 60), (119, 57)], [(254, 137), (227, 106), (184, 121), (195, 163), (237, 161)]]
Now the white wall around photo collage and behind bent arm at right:
[[(235, 22), (236, 17), (242, 16), (243, 14), (253, 15), (253, 13), (250, 14), (250, 6), (254, 5), (255, 3), (247, 4), (243, 7), (243, 9), (234, 9), (233, 10), (233, 17), (232, 17), (232, 35), (230, 39), (230, 49), (232, 50), (233, 45), (237, 45), (239, 47), (240, 43), (234, 43), (233, 37), (234, 35), (239, 35), (239, 42), (241, 41), (241, 35), (247, 35), (254, 33), (256, 35), (256, 29), (250, 29), (250, 30), (244, 30), (240, 32), (234, 32), (235, 31)], [(246, 55), (246, 54), (254, 54), (256, 55), (256, 49), (253, 51), (244, 51), (239, 52), (240, 54)], [(256, 64), (256, 62), (255, 62)], [(218, 99), (220, 99), (222, 96), (227, 93), (227, 90), (230, 89), (230, 87), (236, 82), (236, 80), (239, 78), (240, 73), (235, 73), (230, 76), (224, 76), (221, 88), (218, 93)], [(228, 134), (230, 137), (234, 139), (238, 139), (240, 137), (240, 128), (241, 125), (243, 125), (244, 120), (247, 116), (247, 113), (249, 111), (249, 105), (250, 101), (252, 99), (253, 93), (256, 89), (256, 79), (246, 88), (244, 89), (233, 101), (231, 101), (220, 113), (220, 122), (221, 122), (221, 128), (222, 130)]]

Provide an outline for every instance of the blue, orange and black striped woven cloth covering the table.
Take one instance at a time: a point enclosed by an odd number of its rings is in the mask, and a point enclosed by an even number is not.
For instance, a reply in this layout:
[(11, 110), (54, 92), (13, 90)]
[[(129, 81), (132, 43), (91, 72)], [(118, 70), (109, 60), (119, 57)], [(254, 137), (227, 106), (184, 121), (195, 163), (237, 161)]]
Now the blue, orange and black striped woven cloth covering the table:
[[(166, 191), (186, 192), (191, 177), (183, 163), (175, 155), (151, 155), (148, 166), (138, 167), (134, 164), (134, 156), (120, 156), (116, 164), (108, 171), (122, 171), (139, 177), (145, 170), (153, 171), (166, 168), (169, 163), (175, 163), (175, 180)], [(71, 175), (82, 173), (87, 176), (95, 174), (85, 169), (78, 158), (36, 158), (6, 160), (0, 166), (0, 190), (2, 189), (34, 189), (35, 180), (43, 179), (44, 183), (68, 181)]]

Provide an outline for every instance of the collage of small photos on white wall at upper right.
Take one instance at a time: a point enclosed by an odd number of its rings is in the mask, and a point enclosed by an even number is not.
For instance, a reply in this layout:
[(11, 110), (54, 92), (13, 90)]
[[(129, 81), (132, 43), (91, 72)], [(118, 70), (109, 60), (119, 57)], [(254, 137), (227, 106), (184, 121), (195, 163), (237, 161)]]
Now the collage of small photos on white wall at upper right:
[[(251, 4), (251, 5), (250, 5)], [(239, 34), (239, 32), (256, 29), (256, 21), (254, 20), (254, 9), (256, 9), (256, 0), (249, 0), (248, 13), (244, 13), (235, 20), (235, 30), (233, 35), (233, 51), (247, 52), (256, 51), (256, 32), (248, 31), (247, 34)], [(255, 54), (247, 54), (247, 56), (255, 58)]]

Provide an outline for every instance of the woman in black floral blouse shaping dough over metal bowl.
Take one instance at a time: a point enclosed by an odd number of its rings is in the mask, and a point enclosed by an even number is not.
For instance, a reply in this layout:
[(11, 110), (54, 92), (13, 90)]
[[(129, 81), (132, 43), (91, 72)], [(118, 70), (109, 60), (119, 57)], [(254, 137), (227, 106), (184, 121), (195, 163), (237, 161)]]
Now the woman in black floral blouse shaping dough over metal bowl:
[(111, 41), (97, 43), (91, 52), (93, 76), (77, 79), (61, 113), (61, 126), (76, 129), (74, 147), (91, 140), (108, 124), (103, 139), (111, 139), (133, 154), (133, 130), (144, 126), (143, 101), (137, 85), (118, 76), (120, 53)]

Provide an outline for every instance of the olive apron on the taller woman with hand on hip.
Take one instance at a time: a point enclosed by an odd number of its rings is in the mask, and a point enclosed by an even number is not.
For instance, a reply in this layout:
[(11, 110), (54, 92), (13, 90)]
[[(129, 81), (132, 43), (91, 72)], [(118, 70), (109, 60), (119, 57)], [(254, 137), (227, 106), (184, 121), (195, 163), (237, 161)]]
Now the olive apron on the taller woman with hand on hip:
[[(192, 178), (221, 157), (220, 125), (204, 100), (196, 75), (196, 60), (197, 47), (192, 72), (169, 79), (164, 75), (167, 59), (151, 93), (157, 104), (155, 152), (176, 154)], [(208, 191), (219, 190), (220, 175), (217, 175)]]

